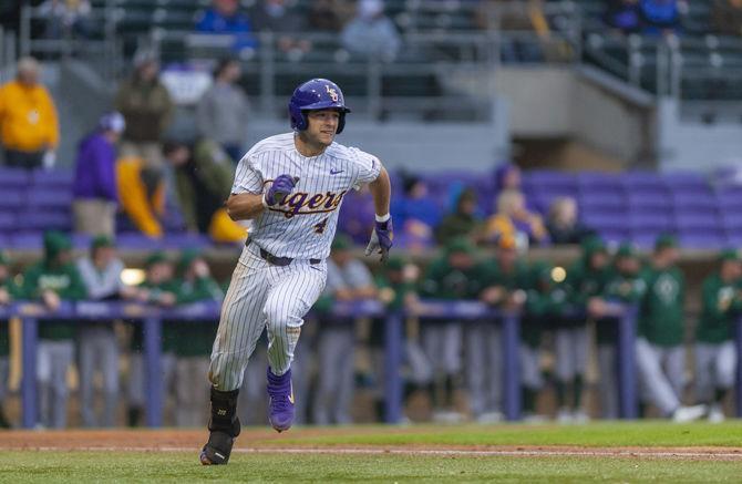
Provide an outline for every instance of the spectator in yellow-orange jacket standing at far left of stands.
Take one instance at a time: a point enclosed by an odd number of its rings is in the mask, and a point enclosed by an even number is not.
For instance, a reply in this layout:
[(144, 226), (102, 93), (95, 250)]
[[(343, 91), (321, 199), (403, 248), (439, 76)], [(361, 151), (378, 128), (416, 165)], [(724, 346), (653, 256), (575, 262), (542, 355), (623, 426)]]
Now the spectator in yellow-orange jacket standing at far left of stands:
[(18, 61), (16, 80), (0, 87), (0, 138), (7, 166), (32, 169), (54, 165), (56, 107), (39, 75), (39, 62), (23, 58)]

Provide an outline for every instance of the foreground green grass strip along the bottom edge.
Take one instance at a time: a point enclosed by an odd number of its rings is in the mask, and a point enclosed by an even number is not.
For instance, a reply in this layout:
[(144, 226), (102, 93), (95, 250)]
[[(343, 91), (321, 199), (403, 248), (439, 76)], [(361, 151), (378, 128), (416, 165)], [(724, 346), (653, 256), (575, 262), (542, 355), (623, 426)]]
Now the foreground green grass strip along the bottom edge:
[(739, 482), (740, 462), (596, 457), (3, 452), (2, 482)]

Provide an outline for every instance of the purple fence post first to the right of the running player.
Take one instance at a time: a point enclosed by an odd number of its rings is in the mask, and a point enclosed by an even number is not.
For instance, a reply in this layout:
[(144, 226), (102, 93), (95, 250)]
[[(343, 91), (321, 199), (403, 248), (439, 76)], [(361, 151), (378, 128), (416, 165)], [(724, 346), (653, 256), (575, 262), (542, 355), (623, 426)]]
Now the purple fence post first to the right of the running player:
[(384, 421), (399, 423), (402, 419), (402, 312), (391, 311), (384, 321)]

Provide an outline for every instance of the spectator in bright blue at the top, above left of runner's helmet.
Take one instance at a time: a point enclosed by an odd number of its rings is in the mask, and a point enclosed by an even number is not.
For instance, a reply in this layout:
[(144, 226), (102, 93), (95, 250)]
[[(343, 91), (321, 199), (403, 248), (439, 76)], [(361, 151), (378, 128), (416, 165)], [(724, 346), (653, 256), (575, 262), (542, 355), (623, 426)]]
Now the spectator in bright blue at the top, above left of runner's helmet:
[(234, 35), (233, 49), (240, 55), (249, 56), (258, 45), (253, 34), (253, 23), (247, 14), (239, 11), (238, 0), (214, 0), (212, 8), (196, 19), (196, 31)]

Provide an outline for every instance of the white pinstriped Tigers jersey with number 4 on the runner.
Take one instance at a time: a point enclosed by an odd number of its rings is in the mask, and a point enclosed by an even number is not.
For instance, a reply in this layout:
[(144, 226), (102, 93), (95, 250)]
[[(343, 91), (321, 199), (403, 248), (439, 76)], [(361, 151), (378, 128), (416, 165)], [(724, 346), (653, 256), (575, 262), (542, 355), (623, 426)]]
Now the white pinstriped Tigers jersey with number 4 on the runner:
[(318, 156), (303, 156), (293, 136), (279, 134), (253, 146), (239, 161), (231, 193), (260, 194), (279, 175), (298, 176), (291, 194), (253, 222), (250, 239), (278, 257), (324, 259), (330, 255), (344, 195), (377, 179), (381, 163), (369, 153), (338, 143)]

